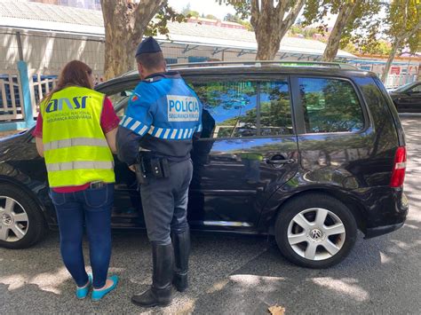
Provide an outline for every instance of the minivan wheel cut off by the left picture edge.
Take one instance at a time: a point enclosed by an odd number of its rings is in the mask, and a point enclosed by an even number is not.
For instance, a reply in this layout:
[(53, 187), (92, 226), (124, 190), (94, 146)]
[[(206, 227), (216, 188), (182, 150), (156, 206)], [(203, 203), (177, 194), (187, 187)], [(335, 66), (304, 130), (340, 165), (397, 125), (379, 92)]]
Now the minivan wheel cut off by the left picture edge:
[(36, 201), (15, 185), (0, 184), (0, 246), (28, 248), (45, 232), (45, 220)]

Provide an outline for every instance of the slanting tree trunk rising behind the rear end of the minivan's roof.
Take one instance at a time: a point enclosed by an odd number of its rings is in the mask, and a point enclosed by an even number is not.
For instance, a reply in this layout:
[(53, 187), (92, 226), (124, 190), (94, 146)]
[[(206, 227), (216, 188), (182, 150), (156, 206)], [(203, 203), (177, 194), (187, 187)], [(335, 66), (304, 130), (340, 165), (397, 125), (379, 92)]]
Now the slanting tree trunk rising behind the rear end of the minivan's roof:
[(353, 4), (344, 4), (338, 13), (338, 19), (335, 22), (335, 26), (333, 27), (328, 43), (326, 48), (323, 52), (322, 60), (331, 62), (335, 60), (339, 50), (339, 43), (342, 37), (342, 32), (346, 27), (346, 23), (350, 19), (351, 15), (353, 14), (353, 9), (355, 6), (359, 4), (358, 1), (354, 2)]

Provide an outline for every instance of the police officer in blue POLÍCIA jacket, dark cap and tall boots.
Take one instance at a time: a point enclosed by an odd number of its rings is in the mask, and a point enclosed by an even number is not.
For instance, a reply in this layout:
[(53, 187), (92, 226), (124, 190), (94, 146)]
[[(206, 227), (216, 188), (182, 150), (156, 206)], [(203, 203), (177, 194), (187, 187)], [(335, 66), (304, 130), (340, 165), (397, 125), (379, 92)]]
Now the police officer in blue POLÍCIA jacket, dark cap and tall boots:
[[(193, 174), (192, 138), (202, 129), (202, 105), (177, 72), (166, 72), (153, 37), (139, 44), (136, 87), (117, 132), (120, 160), (137, 170), (147, 237), (152, 243), (152, 286), (131, 302), (171, 303), (171, 281), (187, 289), (190, 233), (188, 186)], [(171, 241), (172, 238), (172, 241)]]

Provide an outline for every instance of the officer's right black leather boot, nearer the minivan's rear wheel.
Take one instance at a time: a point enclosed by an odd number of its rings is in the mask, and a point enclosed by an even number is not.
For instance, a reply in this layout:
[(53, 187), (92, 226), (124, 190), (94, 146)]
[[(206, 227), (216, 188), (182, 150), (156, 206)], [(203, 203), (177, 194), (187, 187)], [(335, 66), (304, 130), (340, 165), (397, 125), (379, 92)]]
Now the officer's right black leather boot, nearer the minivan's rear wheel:
[(181, 234), (172, 233), (172, 245), (174, 247), (174, 276), (172, 284), (179, 292), (186, 291), (188, 287), (188, 256), (190, 255), (190, 230)]

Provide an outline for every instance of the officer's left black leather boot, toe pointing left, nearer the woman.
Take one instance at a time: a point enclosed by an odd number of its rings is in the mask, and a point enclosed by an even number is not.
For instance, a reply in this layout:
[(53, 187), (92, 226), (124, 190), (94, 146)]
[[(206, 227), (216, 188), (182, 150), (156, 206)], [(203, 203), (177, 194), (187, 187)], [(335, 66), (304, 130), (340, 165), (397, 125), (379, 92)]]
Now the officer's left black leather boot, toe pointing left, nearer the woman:
[(131, 297), (132, 303), (143, 307), (166, 306), (171, 303), (173, 256), (172, 244), (152, 244), (152, 260), (154, 264), (152, 286), (140, 295), (133, 295)]

